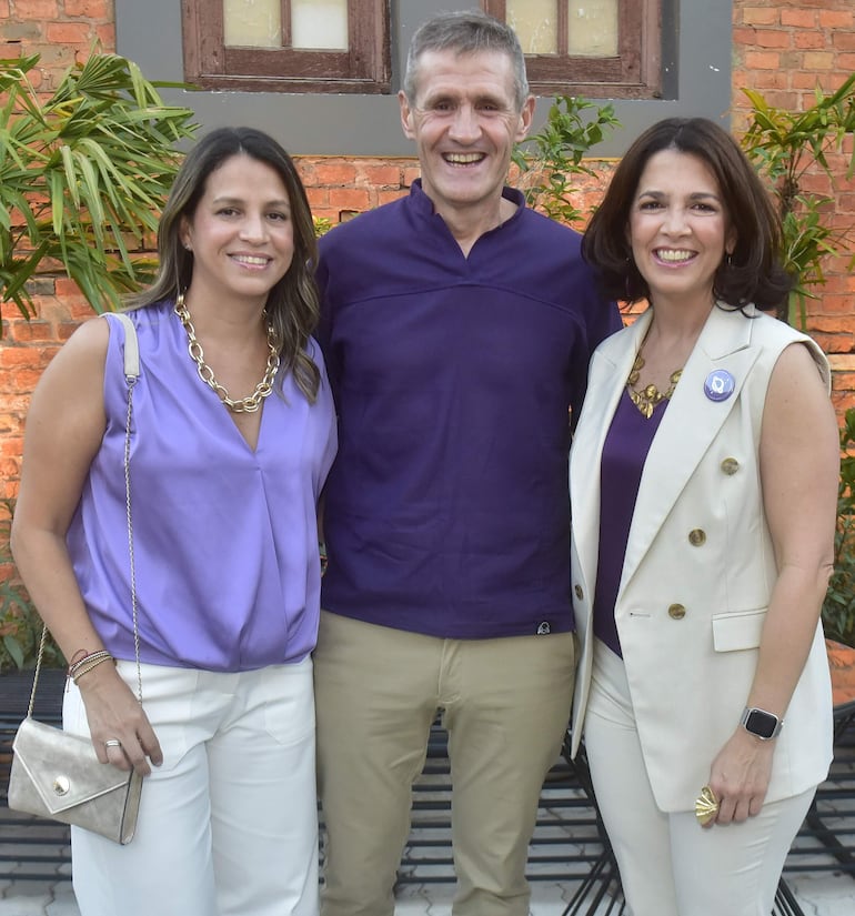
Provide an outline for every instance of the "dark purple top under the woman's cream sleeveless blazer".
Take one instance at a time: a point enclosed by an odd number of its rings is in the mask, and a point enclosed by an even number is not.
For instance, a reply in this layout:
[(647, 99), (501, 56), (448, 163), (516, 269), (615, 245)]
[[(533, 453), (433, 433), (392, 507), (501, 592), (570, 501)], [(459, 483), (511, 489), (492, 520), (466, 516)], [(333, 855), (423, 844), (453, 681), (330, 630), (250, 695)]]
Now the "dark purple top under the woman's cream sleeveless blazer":
[(614, 605), (621, 585), (630, 525), (644, 462), (667, 406), (661, 401), (647, 420), (624, 389), (608, 427), (600, 467), (600, 555), (594, 592), (594, 633), (621, 655)]

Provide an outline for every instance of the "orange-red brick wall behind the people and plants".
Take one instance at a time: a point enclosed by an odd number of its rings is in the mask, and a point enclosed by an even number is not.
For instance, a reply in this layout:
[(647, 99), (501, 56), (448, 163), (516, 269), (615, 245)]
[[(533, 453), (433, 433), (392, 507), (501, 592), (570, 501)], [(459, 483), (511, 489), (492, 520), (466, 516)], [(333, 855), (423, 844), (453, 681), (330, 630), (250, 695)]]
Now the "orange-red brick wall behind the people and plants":
[[(733, 12), (736, 130), (744, 123), (743, 87), (762, 91), (773, 104), (797, 107), (809, 103), (817, 82), (829, 90), (855, 71), (852, 0), (734, 0)], [(104, 51), (114, 49), (112, 0), (0, 0), (0, 56), (39, 52), (33, 79), (46, 91), (95, 42)], [(834, 164), (843, 175), (844, 158)], [(399, 197), (418, 175), (413, 159), (302, 157), (299, 167), (315, 215), (333, 222)], [(596, 200), (607, 171), (603, 163), (598, 179), (583, 184), (580, 205)], [(835, 221), (855, 225), (855, 181), (841, 180), (836, 189), (818, 177), (811, 181), (812, 190), (834, 195)], [(828, 282), (812, 304), (809, 320), (812, 333), (831, 354), (841, 411), (855, 405), (855, 278), (846, 268), (846, 259), (826, 265)], [(37, 291), (39, 314), (29, 323), (17, 316), (13, 305), (2, 306), (0, 497), (17, 491), (29, 394), (57, 348), (91, 314), (73, 284), (62, 278), (39, 280)]]

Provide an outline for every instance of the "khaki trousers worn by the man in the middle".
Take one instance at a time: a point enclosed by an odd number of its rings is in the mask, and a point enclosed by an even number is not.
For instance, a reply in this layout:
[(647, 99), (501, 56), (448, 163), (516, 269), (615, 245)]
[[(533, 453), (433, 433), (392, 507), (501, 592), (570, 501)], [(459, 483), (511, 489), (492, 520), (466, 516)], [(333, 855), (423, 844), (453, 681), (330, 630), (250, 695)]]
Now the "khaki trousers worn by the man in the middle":
[(573, 633), (440, 640), (321, 613), (322, 916), (392, 916), (411, 787), (443, 711), (454, 916), (527, 916), (527, 846), (573, 692)]

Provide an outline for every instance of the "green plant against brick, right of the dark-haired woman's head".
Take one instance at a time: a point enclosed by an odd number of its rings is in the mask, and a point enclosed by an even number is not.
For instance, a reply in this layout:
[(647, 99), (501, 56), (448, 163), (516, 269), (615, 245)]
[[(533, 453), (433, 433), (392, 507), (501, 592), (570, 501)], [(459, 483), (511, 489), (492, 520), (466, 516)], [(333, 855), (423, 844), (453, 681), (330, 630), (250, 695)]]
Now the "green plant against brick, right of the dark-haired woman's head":
[[(855, 133), (855, 73), (836, 92), (826, 95), (817, 88), (814, 104), (806, 111), (775, 108), (760, 92), (744, 92), (751, 102), (752, 119), (742, 145), (774, 190), (784, 228), (784, 265), (797, 281), (787, 313), (781, 318), (791, 324), (797, 320), (804, 329), (807, 300), (816, 298), (811, 288), (825, 282), (823, 259), (852, 251), (851, 228), (831, 224), (834, 200), (806, 192), (802, 182), (814, 165), (834, 182), (828, 155), (842, 152), (846, 137)], [(855, 149), (846, 178), (854, 173)]]

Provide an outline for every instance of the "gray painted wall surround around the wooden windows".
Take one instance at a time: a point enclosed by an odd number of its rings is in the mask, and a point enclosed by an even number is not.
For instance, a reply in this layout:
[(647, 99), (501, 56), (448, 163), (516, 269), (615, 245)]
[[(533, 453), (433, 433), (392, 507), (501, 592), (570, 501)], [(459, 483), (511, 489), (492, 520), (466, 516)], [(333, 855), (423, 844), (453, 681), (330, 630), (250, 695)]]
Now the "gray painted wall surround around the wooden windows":
[[(413, 30), (432, 13), (477, 3), (391, 0), (392, 88), (400, 88)], [(624, 125), (596, 150), (620, 155), (646, 125), (674, 114), (727, 121), (731, 105), (731, 0), (663, 0), (663, 99), (616, 101)], [(117, 50), (149, 79), (182, 81), (180, 0), (115, 0)], [(396, 37), (399, 37), (396, 39)], [(274, 134), (295, 154), (411, 155), (394, 95), (185, 92), (167, 102), (192, 108), (204, 129), (247, 124)], [(550, 107), (540, 99), (534, 130)]]

